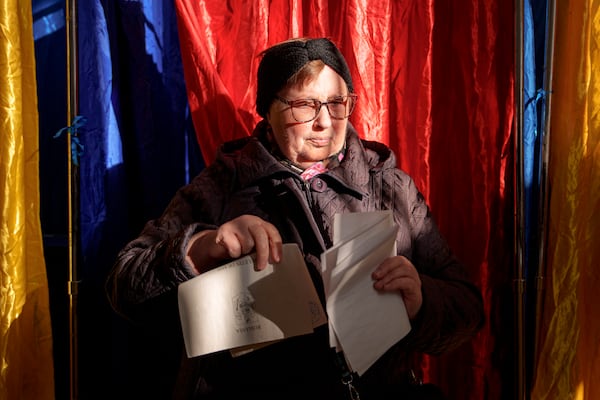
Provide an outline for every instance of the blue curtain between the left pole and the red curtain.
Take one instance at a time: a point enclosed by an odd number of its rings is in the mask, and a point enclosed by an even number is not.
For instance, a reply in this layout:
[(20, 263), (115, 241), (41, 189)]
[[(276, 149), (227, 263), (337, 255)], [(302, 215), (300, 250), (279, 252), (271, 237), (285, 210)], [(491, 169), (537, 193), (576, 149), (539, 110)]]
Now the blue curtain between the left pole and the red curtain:
[[(104, 279), (117, 252), (202, 168), (171, 1), (78, 1), (81, 398), (168, 398), (179, 344), (117, 318)], [(148, 353), (159, 350), (153, 357)], [(164, 354), (164, 357), (160, 357)], [(100, 366), (99, 366), (100, 365)], [(93, 372), (92, 372), (93, 371)], [(156, 385), (149, 384), (150, 382)], [(129, 393), (130, 388), (148, 388)]]

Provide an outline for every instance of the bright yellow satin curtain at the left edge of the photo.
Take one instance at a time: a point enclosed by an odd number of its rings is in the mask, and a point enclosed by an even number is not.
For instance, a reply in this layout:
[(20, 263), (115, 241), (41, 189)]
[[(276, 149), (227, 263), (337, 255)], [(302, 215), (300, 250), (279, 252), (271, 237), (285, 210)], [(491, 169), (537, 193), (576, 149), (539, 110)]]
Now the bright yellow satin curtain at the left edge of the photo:
[(54, 399), (31, 2), (0, 0), (0, 399)]

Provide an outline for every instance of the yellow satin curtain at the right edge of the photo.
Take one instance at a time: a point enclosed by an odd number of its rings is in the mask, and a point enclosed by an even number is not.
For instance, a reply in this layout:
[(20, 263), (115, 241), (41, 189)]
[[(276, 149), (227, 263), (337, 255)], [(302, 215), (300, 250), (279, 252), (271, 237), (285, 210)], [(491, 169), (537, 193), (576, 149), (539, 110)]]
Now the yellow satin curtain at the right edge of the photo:
[(543, 327), (532, 400), (600, 399), (600, 0), (556, 2)]

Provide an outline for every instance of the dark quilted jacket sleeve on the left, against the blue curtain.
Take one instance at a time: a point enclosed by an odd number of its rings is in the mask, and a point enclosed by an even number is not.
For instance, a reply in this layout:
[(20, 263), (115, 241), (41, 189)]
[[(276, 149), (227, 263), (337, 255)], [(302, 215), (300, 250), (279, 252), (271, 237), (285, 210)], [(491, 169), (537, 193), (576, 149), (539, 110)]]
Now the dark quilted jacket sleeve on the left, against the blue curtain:
[(194, 277), (185, 260), (187, 244), (195, 233), (216, 227), (224, 203), (213, 170), (181, 188), (160, 218), (148, 222), (119, 252), (106, 282), (119, 314), (144, 322), (160, 321), (157, 313), (176, 312), (178, 285)]

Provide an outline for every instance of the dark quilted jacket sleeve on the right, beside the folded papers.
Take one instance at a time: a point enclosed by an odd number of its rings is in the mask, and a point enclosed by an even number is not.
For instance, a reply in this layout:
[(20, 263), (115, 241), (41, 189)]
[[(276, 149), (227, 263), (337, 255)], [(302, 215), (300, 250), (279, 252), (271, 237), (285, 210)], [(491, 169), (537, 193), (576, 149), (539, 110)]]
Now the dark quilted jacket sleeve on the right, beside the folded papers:
[[(397, 177), (398, 178), (398, 177)], [(396, 204), (409, 219), (411, 250), (405, 254), (419, 271), (423, 305), (411, 321), (412, 330), (402, 342), (408, 349), (440, 354), (463, 344), (484, 323), (480, 290), (470, 280), (440, 234), (430, 210), (412, 179), (397, 179)]]

